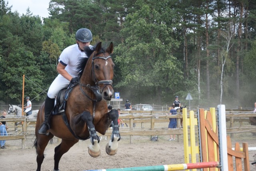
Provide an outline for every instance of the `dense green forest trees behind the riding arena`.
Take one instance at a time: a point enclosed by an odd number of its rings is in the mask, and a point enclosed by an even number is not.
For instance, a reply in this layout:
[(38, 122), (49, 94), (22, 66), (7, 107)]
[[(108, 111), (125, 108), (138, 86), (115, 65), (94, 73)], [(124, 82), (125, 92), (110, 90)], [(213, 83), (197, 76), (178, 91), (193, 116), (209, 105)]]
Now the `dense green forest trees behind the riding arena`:
[[(51, 0), (50, 17), (44, 18), (42, 24), (40, 16), (33, 16), (29, 8), (20, 16), (18, 12), (11, 12), (12, 6), (6, 1), (0, 0), (0, 99), (6, 99), (6, 103), (21, 103), (23, 74), (26, 76), (25, 95), (36, 97), (37, 101), (44, 99), (45, 91), (58, 74), (60, 53), (76, 43), (75, 33), (79, 28), (89, 28), (93, 34), (92, 45), (114, 43), (112, 58), (116, 77), (113, 86), (123, 99), (170, 105), (173, 97), (179, 95), (185, 105), (184, 99), (190, 92), (192, 105), (213, 107), (219, 101), (220, 55), (225, 48), (220, 34), (227, 32), (227, 23), (233, 21), (234, 45), (225, 54), (223, 102), (230, 106), (251, 106), (256, 95), (255, 3), (244, 1), (243, 17), (246, 18), (242, 18), (241, 46), (238, 46), (240, 4), (227, 2)], [(238, 9), (236, 13), (229, 11), (233, 8)], [(206, 37), (209, 45), (206, 45)], [(210, 54), (207, 58), (206, 50)], [(240, 59), (240, 99), (234, 99), (237, 56)], [(208, 79), (210, 101), (206, 100)]]

